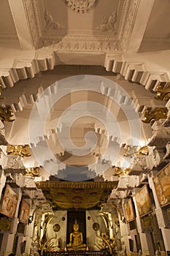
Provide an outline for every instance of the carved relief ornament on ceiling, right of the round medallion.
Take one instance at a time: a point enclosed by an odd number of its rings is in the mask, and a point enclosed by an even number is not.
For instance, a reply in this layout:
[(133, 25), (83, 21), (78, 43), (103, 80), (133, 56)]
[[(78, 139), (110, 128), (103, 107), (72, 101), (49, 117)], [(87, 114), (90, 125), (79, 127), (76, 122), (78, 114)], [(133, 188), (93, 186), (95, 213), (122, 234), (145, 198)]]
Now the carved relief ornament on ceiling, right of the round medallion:
[(117, 22), (117, 12), (112, 12), (112, 15), (107, 17), (102, 17), (101, 18), (101, 23), (99, 26), (96, 27), (97, 30), (100, 31), (115, 31), (115, 25)]

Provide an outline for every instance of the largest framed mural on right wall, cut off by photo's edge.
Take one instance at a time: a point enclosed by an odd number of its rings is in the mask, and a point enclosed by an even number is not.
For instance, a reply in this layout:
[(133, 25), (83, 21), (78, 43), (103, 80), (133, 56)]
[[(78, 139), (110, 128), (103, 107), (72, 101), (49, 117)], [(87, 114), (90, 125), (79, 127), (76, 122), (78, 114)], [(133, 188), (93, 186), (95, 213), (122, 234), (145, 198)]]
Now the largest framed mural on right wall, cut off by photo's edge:
[(166, 165), (154, 178), (155, 190), (161, 206), (170, 203), (170, 165)]

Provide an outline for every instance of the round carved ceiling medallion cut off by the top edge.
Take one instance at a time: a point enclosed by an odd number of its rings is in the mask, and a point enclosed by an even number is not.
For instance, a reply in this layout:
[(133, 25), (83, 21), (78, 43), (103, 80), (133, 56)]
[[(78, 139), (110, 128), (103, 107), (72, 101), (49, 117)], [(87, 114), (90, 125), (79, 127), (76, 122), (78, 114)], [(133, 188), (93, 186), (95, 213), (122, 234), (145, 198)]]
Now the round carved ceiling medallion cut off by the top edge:
[(87, 12), (96, 0), (66, 0), (66, 3), (76, 12)]

